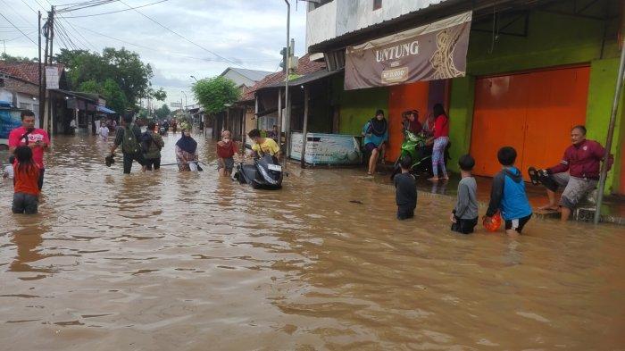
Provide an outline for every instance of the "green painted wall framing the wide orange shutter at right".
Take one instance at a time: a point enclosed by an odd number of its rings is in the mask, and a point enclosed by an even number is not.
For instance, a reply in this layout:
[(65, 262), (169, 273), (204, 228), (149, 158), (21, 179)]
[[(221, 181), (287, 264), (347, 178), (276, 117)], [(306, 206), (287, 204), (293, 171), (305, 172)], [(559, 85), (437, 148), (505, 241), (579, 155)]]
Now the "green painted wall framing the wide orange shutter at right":
[[(503, 19), (502, 22), (505, 22)], [(522, 23), (522, 21), (519, 21)], [(467, 54), (467, 77), (453, 79), (450, 98), (452, 118), (450, 139), (454, 160), (469, 151), (473, 114), (475, 77), (514, 71), (527, 71), (575, 63), (591, 65), (588, 88), (587, 128), (589, 138), (605, 142), (617, 74), (619, 50), (610, 36), (613, 23), (606, 27), (608, 39), (603, 43), (604, 23), (554, 13), (532, 12), (526, 38), (500, 35), (493, 44), (490, 33), (471, 31)], [(612, 151), (619, 150), (620, 123)], [(458, 171), (455, 161), (450, 169)], [(619, 172), (612, 169), (606, 192), (612, 191), (612, 182)]]

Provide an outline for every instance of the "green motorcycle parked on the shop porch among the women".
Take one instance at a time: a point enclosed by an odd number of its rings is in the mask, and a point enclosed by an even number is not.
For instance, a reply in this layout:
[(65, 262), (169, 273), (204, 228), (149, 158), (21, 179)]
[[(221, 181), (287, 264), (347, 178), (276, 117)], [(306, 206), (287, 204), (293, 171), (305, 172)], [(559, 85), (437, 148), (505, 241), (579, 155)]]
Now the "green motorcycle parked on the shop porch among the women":
[[(410, 130), (404, 129), (404, 142), (401, 147), (401, 154), (397, 158), (395, 164), (393, 165), (393, 172), (391, 172), (391, 180), (395, 178), (396, 174), (402, 171), (402, 167), (400, 166), (400, 161), (402, 157), (405, 155), (410, 156), (412, 160), (412, 166), (410, 167), (410, 172), (415, 176), (427, 173), (428, 177), (433, 175), (432, 173), (432, 146), (426, 145), (425, 135), (422, 133), (414, 134)], [(451, 143), (448, 143), (445, 148), (445, 165), (447, 161), (451, 159), (449, 156), (449, 147)]]

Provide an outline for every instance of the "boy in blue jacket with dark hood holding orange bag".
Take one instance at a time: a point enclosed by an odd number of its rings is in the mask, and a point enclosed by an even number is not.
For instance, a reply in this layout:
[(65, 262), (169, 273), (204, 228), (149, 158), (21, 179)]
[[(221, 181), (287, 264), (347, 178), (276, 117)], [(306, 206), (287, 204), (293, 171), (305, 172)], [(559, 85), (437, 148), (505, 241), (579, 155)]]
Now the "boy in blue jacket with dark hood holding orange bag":
[(486, 221), (490, 221), (490, 218), (499, 210), (505, 221), (505, 232), (521, 233), (531, 218), (532, 210), (528, 196), (525, 194), (525, 182), (523, 182), (521, 171), (514, 167), (516, 150), (511, 146), (504, 146), (497, 152), (497, 159), (504, 169), (499, 171), (493, 179)]

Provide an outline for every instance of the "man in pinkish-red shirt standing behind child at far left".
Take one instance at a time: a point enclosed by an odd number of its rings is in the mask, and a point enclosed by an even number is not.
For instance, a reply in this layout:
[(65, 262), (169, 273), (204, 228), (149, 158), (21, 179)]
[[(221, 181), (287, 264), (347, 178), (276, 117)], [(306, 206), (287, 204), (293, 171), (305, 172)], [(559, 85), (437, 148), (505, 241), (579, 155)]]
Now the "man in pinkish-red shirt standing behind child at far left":
[(44, 186), (44, 151), (50, 146), (50, 138), (46, 130), (35, 128), (35, 113), (24, 111), (21, 113), (21, 127), (11, 130), (9, 134), (9, 151), (13, 153), (17, 146), (29, 146), (32, 149), (32, 158), (39, 171), (39, 190)]

